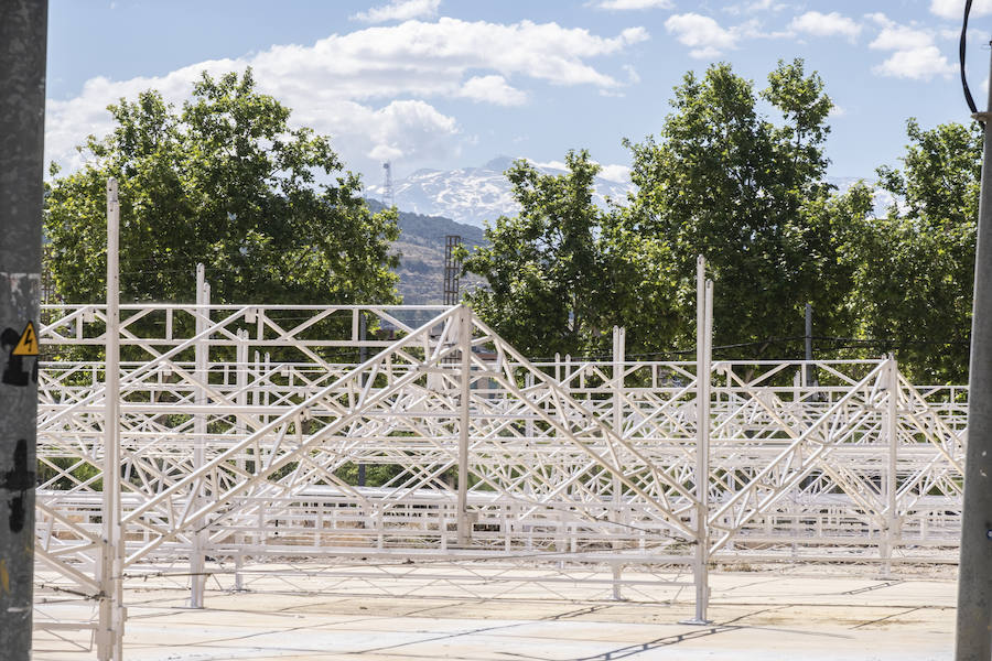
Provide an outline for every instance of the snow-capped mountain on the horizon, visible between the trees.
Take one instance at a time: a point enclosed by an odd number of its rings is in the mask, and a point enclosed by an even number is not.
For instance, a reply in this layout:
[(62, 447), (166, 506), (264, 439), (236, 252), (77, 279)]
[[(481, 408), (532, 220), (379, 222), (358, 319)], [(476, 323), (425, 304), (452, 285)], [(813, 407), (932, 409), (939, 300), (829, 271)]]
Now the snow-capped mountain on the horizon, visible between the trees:
[[(508, 156), (493, 159), (481, 167), (459, 170), (418, 170), (410, 176), (393, 181), (396, 206), (403, 212), (424, 216), (443, 216), (456, 223), (483, 227), (486, 220), (499, 216), (513, 216), (519, 212), (510, 194), (510, 183), (503, 174), (514, 160)], [(544, 174), (564, 174), (557, 164), (535, 165)], [(616, 170), (616, 167), (611, 167)], [(855, 177), (828, 177), (829, 183), (844, 192), (859, 180)], [(873, 182), (869, 182), (872, 184)], [(595, 182), (595, 201), (606, 206), (606, 198), (623, 204), (634, 185), (622, 176), (600, 176)], [(381, 199), (382, 184), (369, 185), (367, 195)], [(884, 216), (893, 197), (885, 191), (875, 192), (875, 215)]]

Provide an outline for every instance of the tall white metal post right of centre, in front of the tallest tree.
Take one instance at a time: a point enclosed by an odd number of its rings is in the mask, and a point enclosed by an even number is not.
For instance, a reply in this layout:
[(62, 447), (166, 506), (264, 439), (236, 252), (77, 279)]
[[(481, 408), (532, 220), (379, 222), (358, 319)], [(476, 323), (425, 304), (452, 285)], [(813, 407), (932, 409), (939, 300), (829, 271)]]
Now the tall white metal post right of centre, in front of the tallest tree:
[(707, 260), (696, 262), (696, 554), (692, 562), (696, 583), (696, 617), (687, 624), (708, 624), (710, 602), (709, 555), (710, 535), (707, 519), (710, 514), (710, 351), (712, 344), (712, 283), (707, 280)]

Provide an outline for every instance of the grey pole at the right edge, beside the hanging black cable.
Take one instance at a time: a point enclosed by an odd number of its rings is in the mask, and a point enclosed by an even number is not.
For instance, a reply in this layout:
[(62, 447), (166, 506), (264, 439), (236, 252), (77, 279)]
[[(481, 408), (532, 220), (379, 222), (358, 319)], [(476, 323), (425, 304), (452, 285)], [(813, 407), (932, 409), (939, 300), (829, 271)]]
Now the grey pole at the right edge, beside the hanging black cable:
[(974, 259), (956, 661), (992, 657), (992, 88), (986, 108), (977, 117), (985, 122), (985, 138)]

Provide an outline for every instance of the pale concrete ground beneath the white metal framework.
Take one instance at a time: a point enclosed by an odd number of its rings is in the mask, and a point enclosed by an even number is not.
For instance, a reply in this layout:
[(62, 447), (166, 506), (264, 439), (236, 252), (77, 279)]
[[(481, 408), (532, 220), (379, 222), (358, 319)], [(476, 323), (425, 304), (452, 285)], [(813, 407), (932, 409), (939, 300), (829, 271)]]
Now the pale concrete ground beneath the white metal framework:
[[(653, 596), (648, 575), (627, 590), (630, 600), (615, 602), (603, 598), (602, 586), (561, 585), (551, 594), (540, 576), (507, 592), (462, 567), (402, 581), (299, 576), (285, 568), (249, 575), (249, 592), (212, 581), (206, 608), (197, 610), (186, 607), (188, 593), (179, 583), (131, 581), (126, 658), (930, 661), (951, 659), (953, 650), (957, 590), (946, 573), (880, 579), (810, 566), (714, 572), (712, 624), (697, 626), (680, 624), (693, 614), (692, 588), (658, 588)], [(453, 587), (459, 577), (475, 589)], [(47, 604), (36, 619), (86, 617), (87, 608)], [(35, 633), (35, 661), (95, 658), (88, 631)]]

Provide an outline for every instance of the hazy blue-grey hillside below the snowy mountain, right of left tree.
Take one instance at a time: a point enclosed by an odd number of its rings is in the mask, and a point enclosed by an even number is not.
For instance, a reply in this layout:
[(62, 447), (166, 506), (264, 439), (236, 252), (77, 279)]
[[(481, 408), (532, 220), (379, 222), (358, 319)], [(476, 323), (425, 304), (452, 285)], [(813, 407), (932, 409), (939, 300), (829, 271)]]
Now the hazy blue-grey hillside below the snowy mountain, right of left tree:
[[(373, 210), (382, 208), (376, 199), (369, 199)], [(455, 223), (440, 216), (399, 213), (400, 238), (393, 248), (400, 253), (399, 292), (403, 303), (410, 305), (432, 305), (444, 302), (444, 239), (448, 235), (462, 237), (470, 250), (485, 245), (483, 230), (471, 225)], [(485, 281), (468, 275), (461, 281), (461, 289), (475, 288)]]

